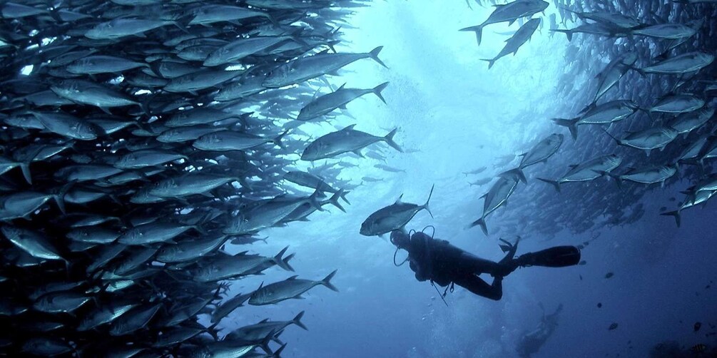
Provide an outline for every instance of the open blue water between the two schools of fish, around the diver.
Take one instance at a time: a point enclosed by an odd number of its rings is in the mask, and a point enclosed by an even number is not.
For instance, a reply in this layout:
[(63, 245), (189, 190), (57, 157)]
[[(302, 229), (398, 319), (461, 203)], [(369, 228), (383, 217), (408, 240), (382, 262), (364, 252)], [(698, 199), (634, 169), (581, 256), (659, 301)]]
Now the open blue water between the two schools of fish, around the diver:
[[(678, 190), (688, 186), (686, 181), (653, 188), (637, 198), (646, 214), (636, 223), (575, 234), (547, 222), (544, 225), (556, 226), (548, 228), (553, 236), (521, 233), (526, 239), (519, 254), (597, 238), (582, 251), (584, 266), (518, 269), (503, 281), (501, 301), (456, 287), (446, 296), (446, 306), (429, 283), (414, 279), (407, 265), (394, 267), (394, 246), (388, 241), (359, 235), (359, 226), (370, 213), (401, 194), (403, 200), (423, 203), (435, 183), (433, 218), (422, 211), (408, 228), (433, 225), (438, 238), (498, 260), (503, 256), (498, 248), (500, 232), (486, 237), (479, 228), (465, 228), (480, 217), (479, 197), (489, 186), (470, 187), (468, 180), (477, 177), (466, 178), (462, 172), (488, 166), (478, 177), (494, 175), (496, 158), (521, 153), (551, 132), (566, 135), (563, 147), (548, 163), (538, 165), (545, 168), (526, 172), (563, 172), (576, 163), (576, 144), (564, 128), (549, 120), (584, 105), (557, 95), (556, 87), (566, 80), (565, 37), (549, 37), (545, 24), (516, 56), (500, 59), (488, 70), (480, 59), (495, 56), (508, 38), (495, 32), (515, 30), (518, 24), (486, 27), (478, 47), (473, 34), (457, 31), (480, 23), (492, 11), (473, 7), (468, 9), (462, 1), (375, 1), (353, 15), (355, 29), (346, 30), (347, 41), (340, 51), (364, 52), (383, 45), (381, 59), (390, 69), (365, 60), (330, 81), (365, 88), (389, 81), (384, 92), (388, 105), (369, 95), (348, 105), (355, 119), (338, 116), (331, 125), (305, 125), (302, 130), (318, 137), (335, 130), (332, 125), (356, 123), (357, 130), (384, 135), (399, 127), (397, 142), (412, 153), (379, 146), (389, 165), (407, 173), (384, 173), (373, 168), (379, 163), (376, 160), (347, 159), (360, 166), (343, 170), (340, 178), (359, 182), (370, 176), (384, 181), (353, 190), (348, 213), (334, 208), (314, 213), (308, 223), (267, 231), (270, 241), (252, 246), (263, 255), (290, 246), (290, 252), (299, 253), (293, 266), (303, 278), (321, 279), (338, 269), (333, 283), (341, 292), (319, 286), (304, 300), (249, 306), (237, 310), (225, 322), (227, 327), (265, 317), (291, 319), (306, 311), (303, 323), (309, 331), (290, 326), (281, 336), (288, 342), (285, 357), (517, 357), (521, 337), (541, 321), (541, 306), (550, 314), (562, 304), (558, 327), (533, 357), (647, 357), (660, 342), (674, 340), (685, 348), (717, 343), (714, 336), (705, 337), (714, 331), (708, 322), (717, 323), (717, 286), (706, 289), (717, 280), (715, 205), (708, 202), (704, 208), (685, 211), (681, 228), (672, 218), (657, 215), (668, 198), (679, 196)], [(547, 14), (552, 11), (551, 5)], [(601, 190), (619, 190), (607, 180), (600, 181)], [(501, 216), (530, 208), (526, 204), (531, 197), (545, 191), (591, 210), (599, 205), (585, 201), (591, 188), (583, 185), (582, 191), (571, 191), (578, 194), (554, 194), (549, 185), (529, 178), (528, 185), (516, 190), (515, 201), (488, 218), (488, 226), (502, 229)], [(531, 210), (537, 215), (541, 208)], [(536, 215), (520, 213), (521, 218)], [(405, 254), (399, 252), (398, 257)], [(614, 276), (606, 279), (609, 272)], [(237, 282), (232, 291), (249, 291), (261, 281), (288, 276), (271, 269), (266, 276)], [(695, 321), (703, 324), (699, 332), (693, 332)], [(609, 330), (613, 322), (618, 327)]]

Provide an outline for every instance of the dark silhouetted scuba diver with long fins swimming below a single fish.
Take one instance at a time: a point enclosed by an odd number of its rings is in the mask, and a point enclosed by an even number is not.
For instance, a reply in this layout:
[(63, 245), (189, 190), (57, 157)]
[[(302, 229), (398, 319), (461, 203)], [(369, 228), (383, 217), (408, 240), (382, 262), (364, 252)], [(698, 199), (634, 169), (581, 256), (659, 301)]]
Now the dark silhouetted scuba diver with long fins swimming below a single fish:
[[(391, 231), (391, 243), (397, 246), (397, 252), (399, 249), (408, 251), (406, 261), (409, 261), (418, 281), (430, 280), (432, 285), (435, 283), (446, 287), (446, 292), (447, 286), (451, 285), (450, 290), (453, 291), (453, 285), (457, 284), (473, 294), (495, 301), (503, 297), (503, 277), (518, 267), (564, 267), (576, 265), (580, 261), (580, 250), (575, 246), (556, 246), (513, 258), (518, 242), (511, 244), (503, 239), (501, 241), (504, 245), (500, 247), (507, 254), (502, 260), (495, 262), (463, 251), (448, 241), (432, 238), (422, 231), (417, 231), (412, 236), (401, 230)], [(395, 259), (394, 254), (394, 264), (400, 266)], [(489, 285), (481, 279), (478, 276), (480, 274), (493, 276), (493, 284)]]

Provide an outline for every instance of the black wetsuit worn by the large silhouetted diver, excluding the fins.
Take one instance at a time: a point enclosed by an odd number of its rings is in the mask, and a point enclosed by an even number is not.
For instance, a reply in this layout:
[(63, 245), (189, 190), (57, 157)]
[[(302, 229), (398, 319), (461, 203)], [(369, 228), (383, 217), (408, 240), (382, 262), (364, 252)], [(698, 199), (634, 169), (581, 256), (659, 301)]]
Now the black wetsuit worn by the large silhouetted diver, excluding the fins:
[[(473, 294), (497, 301), (503, 297), (503, 276), (516, 267), (485, 260), (422, 232), (408, 238), (406, 233), (394, 231), (391, 241), (396, 236), (403, 236), (404, 244), (399, 247), (408, 251), (409, 266), (418, 281), (431, 280), (440, 286), (455, 283)], [(492, 275), (493, 284), (481, 279), (480, 274)]]

